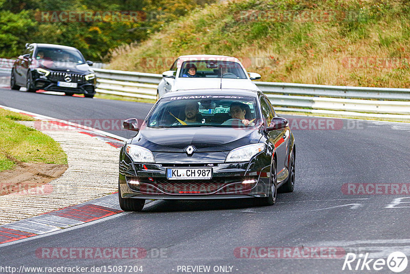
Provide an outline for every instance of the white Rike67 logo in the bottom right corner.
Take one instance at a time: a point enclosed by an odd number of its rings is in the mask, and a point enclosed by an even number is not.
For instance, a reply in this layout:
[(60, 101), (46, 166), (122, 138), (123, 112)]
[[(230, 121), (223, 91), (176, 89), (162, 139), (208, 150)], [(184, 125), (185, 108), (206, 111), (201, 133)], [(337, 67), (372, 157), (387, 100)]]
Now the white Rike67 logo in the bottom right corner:
[(347, 253), (344, 259), (342, 270), (382, 270), (390, 269), (393, 272), (402, 272), (407, 267), (407, 256), (400, 251), (392, 252), (387, 260), (385, 259), (368, 259), (366, 253), (356, 255), (355, 253)]

